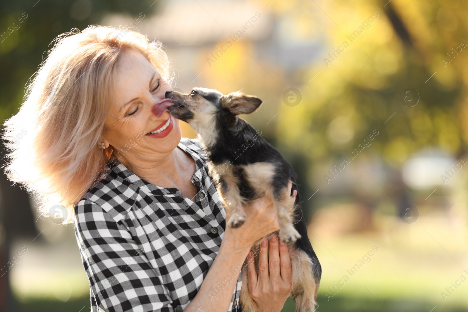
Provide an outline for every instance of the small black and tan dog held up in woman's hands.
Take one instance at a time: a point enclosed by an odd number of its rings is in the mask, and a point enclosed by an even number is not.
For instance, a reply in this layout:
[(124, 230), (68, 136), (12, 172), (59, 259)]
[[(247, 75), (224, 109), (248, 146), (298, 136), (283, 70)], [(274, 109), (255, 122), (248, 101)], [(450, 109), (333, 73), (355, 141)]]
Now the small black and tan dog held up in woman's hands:
[[(292, 191), (297, 189), (296, 173), (277, 149), (238, 117), (254, 112), (262, 100), (240, 92), (223, 95), (206, 88), (194, 88), (190, 94), (168, 91), (166, 98), (174, 102), (168, 107), (171, 116), (189, 123), (199, 133), (210, 175), (224, 207), (231, 212), (228, 226), (239, 227), (244, 223), (246, 215), (242, 205), (246, 201), (271, 197), (278, 211), (279, 239), (288, 243), (296, 311), (313, 312), (322, 268), (307, 236), (299, 194), (294, 205), (290, 205)], [(261, 241), (252, 247), (257, 270)], [(242, 284), (248, 284), (247, 281), (244, 266)], [(256, 311), (248, 287), (242, 287), (240, 301), (242, 311)]]

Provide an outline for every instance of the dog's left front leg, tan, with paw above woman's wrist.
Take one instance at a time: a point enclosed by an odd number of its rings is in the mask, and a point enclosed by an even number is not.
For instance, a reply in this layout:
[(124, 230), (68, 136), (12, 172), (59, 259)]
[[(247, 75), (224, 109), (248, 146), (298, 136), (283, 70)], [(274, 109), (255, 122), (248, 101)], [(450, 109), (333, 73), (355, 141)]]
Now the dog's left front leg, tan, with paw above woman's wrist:
[(244, 199), (238, 187), (239, 178), (233, 172), (233, 166), (227, 169), (208, 163), (209, 173), (217, 186), (221, 202), (231, 216), (227, 220), (230, 227), (239, 227), (245, 222), (245, 212), (242, 208)]

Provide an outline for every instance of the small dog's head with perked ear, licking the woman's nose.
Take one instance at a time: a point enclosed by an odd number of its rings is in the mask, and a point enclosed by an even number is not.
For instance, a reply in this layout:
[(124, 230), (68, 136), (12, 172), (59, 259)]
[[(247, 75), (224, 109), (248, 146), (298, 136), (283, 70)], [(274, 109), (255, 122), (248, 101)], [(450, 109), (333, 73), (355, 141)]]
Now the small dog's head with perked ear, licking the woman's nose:
[(168, 91), (166, 98), (174, 102), (168, 108), (169, 113), (189, 123), (208, 145), (219, 137), (220, 132), (235, 126), (237, 115), (250, 114), (262, 104), (256, 96), (241, 92), (223, 95), (206, 88), (193, 88), (190, 94)]

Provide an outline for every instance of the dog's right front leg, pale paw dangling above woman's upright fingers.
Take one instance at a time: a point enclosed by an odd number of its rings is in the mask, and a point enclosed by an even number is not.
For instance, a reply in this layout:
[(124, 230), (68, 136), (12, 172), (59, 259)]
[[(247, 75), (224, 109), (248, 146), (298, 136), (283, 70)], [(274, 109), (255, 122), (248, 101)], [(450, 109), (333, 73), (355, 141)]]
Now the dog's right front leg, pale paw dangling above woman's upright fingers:
[(293, 222), (298, 222), (299, 218), (302, 218), (302, 216), (294, 215), (295, 211), (300, 211), (300, 208), (296, 207), (296, 204), (291, 205), (291, 197), (287, 189), (283, 189), (276, 197), (278, 199), (275, 205), (278, 211), (279, 239), (286, 244), (292, 244), (300, 239), (300, 234), (293, 224)]

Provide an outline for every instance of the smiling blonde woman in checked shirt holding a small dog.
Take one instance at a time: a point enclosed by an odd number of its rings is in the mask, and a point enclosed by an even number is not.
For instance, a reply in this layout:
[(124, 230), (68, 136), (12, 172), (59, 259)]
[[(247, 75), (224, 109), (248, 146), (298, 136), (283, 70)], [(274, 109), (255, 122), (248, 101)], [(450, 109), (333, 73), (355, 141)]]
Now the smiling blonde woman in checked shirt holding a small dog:
[(258, 276), (249, 251), (279, 228), (272, 203), (247, 203), (245, 224), (226, 228), (198, 140), (181, 139), (160, 109), (172, 77), (161, 44), (137, 32), (59, 37), (5, 122), (6, 173), (42, 199), (44, 214), (54, 203), (68, 209), (92, 311), (241, 311), (246, 258), (258, 311), (280, 311), (291, 291), (287, 247), (276, 235), (263, 241)]

